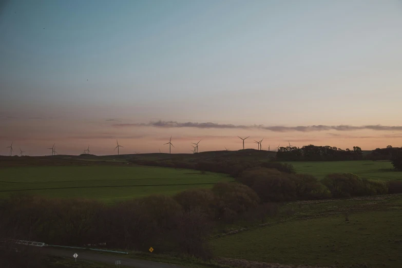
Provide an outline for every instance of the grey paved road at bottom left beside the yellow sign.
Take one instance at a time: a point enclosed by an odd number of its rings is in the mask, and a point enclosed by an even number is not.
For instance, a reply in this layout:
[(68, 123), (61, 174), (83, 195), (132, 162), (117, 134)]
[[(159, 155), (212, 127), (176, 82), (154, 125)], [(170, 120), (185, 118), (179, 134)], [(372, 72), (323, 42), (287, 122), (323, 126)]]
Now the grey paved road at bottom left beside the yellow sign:
[(48, 255), (68, 257), (68, 258), (73, 258), (72, 255), (74, 255), (74, 253), (76, 253), (76, 254), (78, 254), (77, 261), (90, 260), (90, 261), (111, 263), (114, 265), (114, 261), (120, 260), (121, 265), (136, 267), (136, 268), (184, 268), (183, 266), (178, 266), (178, 265), (173, 265), (173, 264), (131, 259), (131, 258), (124, 257), (124, 255), (120, 255), (120, 256), (104, 255), (104, 254), (95, 253), (95, 252), (78, 251), (78, 250), (73, 250), (73, 249), (69, 250), (69, 249), (51, 248), (51, 247), (42, 247), (41, 251)]

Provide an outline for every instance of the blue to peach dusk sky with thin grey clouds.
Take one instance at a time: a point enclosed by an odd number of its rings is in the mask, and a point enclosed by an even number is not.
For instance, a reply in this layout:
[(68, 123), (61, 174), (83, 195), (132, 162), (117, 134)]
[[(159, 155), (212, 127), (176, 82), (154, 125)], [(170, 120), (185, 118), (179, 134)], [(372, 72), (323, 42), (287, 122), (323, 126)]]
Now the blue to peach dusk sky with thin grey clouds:
[(402, 1), (1, 1), (0, 155), (402, 146)]

